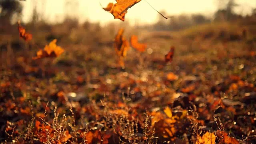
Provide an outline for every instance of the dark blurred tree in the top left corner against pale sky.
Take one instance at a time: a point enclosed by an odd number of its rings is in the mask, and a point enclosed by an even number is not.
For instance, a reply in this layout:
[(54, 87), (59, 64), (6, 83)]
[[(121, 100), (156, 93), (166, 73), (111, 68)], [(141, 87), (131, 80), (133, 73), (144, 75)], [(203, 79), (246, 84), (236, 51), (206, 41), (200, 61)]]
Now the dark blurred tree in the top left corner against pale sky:
[(12, 20), (14, 15), (20, 17), (22, 5), (18, 0), (0, 0), (0, 9), (0, 32), (4, 32), (4, 30), (9, 31), (10, 20)]

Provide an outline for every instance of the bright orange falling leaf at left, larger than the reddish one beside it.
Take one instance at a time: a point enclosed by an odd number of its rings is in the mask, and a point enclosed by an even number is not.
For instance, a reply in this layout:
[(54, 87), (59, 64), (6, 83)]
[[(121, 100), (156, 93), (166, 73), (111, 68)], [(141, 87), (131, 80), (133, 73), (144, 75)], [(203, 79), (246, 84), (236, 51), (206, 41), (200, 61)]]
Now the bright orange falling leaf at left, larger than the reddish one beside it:
[(56, 42), (57, 39), (52, 40), (49, 45), (44, 47), (44, 50), (39, 50), (36, 53), (36, 57), (33, 57), (33, 59), (36, 60), (40, 58), (52, 58), (60, 56), (64, 50), (60, 46), (57, 46)]

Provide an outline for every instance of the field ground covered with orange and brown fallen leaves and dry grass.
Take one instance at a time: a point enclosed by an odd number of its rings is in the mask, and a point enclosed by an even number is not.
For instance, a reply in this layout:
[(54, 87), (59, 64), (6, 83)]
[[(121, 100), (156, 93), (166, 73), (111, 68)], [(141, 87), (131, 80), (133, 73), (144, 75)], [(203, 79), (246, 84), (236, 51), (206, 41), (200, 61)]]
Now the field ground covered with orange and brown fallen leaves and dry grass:
[[(147, 49), (130, 48), (124, 69), (111, 34), (107, 40), (88, 34), (87, 44), (58, 40), (65, 50), (58, 58), (32, 60), (34, 45), (1, 47), (0, 141), (255, 143), (256, 31), (213, 25), (138, 30)], [(166, 63), (170, 46), (174, 57)]]

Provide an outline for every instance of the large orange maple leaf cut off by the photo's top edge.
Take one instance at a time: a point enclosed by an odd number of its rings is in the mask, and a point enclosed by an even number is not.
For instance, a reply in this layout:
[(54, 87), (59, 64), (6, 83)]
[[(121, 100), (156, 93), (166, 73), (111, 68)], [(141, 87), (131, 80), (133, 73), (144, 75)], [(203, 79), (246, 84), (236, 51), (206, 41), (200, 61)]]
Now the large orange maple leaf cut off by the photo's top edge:
[(141, 0), (116, 0), (116, 4), (109, 3), (104, 10), (110, 12), (114, 19), (120, 19), (124, 21), (124, 16), (127, 13), (128, 8), (131, 8)]

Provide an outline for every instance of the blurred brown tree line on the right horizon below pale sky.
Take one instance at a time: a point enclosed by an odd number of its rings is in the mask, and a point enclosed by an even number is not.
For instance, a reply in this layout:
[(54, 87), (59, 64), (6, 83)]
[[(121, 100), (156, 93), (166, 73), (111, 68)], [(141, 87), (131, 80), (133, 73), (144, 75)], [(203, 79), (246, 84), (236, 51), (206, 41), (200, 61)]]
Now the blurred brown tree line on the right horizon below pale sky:
[[(224, 2), (226, 1), (226, 3)], [(178, 16), (172, 16), (170, 20), (166, 21), (162, 17), (158, 18), (158, 22), (154, 24), (153, 30), (180, 30), (183, 28), (188, 28), (190, 26), (198, 25), (198, 24), (204, 24), (209, 22), (227, 22), (227, 21), (233, 21), (237, 19), (243, 18), (242, 15), (236, 14), (234, 12), (234, 8), (236, 6), (239, 6), (236, 4), (235, 0), (219, 0), (221, 4), (218, 10), (214, 13), (213, 17), (207, 17), (203, 14), (181, 14)], [(161, 13), (166, 14), (166, 12), (162, 11)], [(256, 8), (252, 9), (252, 15), (246, 16), (246, 17), (255, 17), (256, 18)], [(144, 27), (144, 26), (142, 26)], [(146, 26), (150, 27), (150, 26)]]

